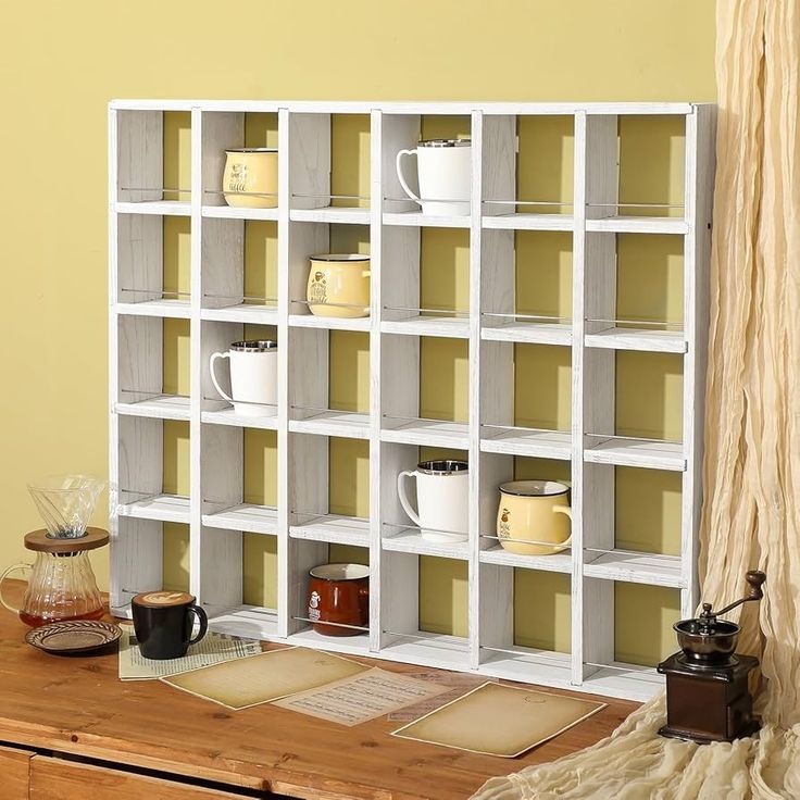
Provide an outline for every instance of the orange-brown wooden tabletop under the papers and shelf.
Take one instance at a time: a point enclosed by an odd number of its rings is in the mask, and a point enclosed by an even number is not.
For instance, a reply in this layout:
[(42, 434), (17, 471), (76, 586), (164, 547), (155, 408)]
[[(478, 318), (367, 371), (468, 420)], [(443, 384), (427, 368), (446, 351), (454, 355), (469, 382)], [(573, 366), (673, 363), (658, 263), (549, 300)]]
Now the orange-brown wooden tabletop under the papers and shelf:
[[(21, 585), (8, 586), (18, 599)], [(385, 717), (348, 728), (270, 704), (226, 711), (159, 680), (122, 683), (115, 652), (49, 655), (25, 643), (26, 630), (0, 609), (0, 741), (300, 798), (467, 798), (489, 777), (592, 745), (637, 708), (607, 700), (526, 755), (499, 759), (391, 737), (402, 723)]]

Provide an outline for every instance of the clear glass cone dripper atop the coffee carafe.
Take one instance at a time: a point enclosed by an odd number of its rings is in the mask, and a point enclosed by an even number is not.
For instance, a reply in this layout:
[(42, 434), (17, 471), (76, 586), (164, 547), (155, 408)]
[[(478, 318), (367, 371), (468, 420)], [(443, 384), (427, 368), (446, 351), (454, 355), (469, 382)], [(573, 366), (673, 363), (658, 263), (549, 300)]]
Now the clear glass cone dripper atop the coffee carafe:
[(104, 480), (87, 475), (48, 475), (28, 484), (51, 539), (84, 536), (104, 488)]

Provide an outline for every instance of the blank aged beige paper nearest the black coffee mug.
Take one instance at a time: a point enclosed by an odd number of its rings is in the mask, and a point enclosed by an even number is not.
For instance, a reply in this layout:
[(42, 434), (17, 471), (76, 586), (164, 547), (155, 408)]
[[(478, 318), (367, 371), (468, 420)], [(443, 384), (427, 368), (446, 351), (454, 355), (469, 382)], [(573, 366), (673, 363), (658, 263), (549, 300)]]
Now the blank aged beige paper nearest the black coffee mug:
[(315, 689), (368, 668), (338, 655), (289, 647), (172, 675), (162, 680), (238, 711)]

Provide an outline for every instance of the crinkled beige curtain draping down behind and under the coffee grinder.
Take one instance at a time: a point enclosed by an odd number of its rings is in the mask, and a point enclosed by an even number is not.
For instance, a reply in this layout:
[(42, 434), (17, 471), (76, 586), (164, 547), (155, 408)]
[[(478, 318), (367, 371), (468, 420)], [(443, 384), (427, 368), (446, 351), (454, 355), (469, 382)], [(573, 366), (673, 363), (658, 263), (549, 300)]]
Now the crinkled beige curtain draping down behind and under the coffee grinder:
[(480, 800), (800, 798), (800, 0), (717, 0), (717, 173), (712, 243), (701, 563), (703, 596), (746, 607), (740, 651), (762, 659), (758, 737), (663, 739), (663, 696), (609, 738), (495, 778)]

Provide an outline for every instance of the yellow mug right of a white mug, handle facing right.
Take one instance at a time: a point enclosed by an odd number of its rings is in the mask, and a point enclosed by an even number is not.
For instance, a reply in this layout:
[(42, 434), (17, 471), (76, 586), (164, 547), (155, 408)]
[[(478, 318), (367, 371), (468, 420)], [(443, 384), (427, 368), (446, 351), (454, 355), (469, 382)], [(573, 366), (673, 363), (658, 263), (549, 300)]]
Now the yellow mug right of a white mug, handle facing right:
[(517, 555), (552, 555), (570, 547), (570, 487), (555, 480), (512, 480), (500, 486), (497, 537)]

